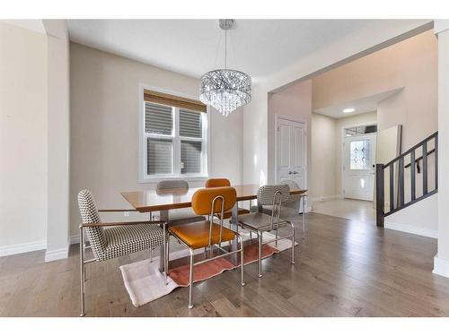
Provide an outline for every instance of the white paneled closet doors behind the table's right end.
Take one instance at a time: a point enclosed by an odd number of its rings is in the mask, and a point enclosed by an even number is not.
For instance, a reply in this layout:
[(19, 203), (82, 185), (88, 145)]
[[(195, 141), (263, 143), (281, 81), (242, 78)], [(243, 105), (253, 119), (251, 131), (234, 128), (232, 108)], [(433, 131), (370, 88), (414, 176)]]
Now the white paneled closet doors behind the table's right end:
[(300, 188), (306, 183), (306, 125), (277, 118), (276, 182), (291, 179)]

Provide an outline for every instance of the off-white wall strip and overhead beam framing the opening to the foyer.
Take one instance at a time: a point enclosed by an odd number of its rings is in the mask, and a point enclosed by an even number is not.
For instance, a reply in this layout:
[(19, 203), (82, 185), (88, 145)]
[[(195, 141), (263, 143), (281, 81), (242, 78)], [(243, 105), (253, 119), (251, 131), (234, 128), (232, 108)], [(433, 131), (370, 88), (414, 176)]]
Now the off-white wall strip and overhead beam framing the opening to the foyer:
[(314, 73), (357, 59), (374, 50), (405, 39), (412, 30), (430, 29), (430, 20), (394, 20), (370, 24), (335, 39), (329, 45), (301, 57), (252, 87), (251, 104), (243, 108), (243, 182), (260, 183), (268, 176), (268, 98), (269, 92), (295, 81), (311, 78)]

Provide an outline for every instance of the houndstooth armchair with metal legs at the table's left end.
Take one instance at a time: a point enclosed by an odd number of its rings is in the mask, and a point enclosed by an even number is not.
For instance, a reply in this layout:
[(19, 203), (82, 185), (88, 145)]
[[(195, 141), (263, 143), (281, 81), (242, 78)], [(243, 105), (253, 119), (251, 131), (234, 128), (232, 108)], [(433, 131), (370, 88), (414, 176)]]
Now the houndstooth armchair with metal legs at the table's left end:
[[(84, 316), (85, 265), (102, 262), (138, 251), (152, 250), (163, 245), (163, 221), (128, 221), (104, 223), (95, 206), (92, 193), (82, 190), (78, 204), (83, 224), (80, 225), (80, 268), (81, 268), (81, 316)], [(159, 225), (162, 224), (163, 228)], [(84, 232), (92, 248), (93, 259), (85, 261)]]

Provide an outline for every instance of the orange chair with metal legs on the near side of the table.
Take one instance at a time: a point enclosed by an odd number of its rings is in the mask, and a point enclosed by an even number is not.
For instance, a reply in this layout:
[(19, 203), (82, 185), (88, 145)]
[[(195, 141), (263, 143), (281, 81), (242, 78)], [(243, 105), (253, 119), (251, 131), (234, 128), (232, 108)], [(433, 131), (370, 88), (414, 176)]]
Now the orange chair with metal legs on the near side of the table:
[[(207, 261), (221, 258), (230, 254), (240, 253), (241, 263), (241, 283), (243, 281), (243, 241), (240, 235), (229, 229), (223, 227), (223, 217), (225, 211), (233, 209), (235, 202), (237, 202), (237, 194), (235, 189), (231, 186), (199, 189), (192, 196), (192, 209), (197, 215), (206, 216), (207, 220), (198, 221), (191, 224), (176, 225), (168, 228), (168, 237), (165, 239), (164, 253), (165, 253), (165, 284), (167, 284), (167, 275), (169, 274), (169, 247), (170, 236), (178, 239), (180, 243), (187, 246), (190, 252), (190, 272), (189, 272), (189, 308), (193, 307), (192, 289), (193, 289), (193, 266)], [(214, 216), (220, 214), (219, 223), (214, 222)], [(237, 237), (240, 248), (238, 250), (230, 251), (222, 247), (222, 243), (231, 242)], [(213, 256), (213, 247), (224, 252), (224, 254), (217, 254)], [(209, 249), (209, 257), (205, 253), (205, 259), (195, 263), (194, 250), (198, 248)]]

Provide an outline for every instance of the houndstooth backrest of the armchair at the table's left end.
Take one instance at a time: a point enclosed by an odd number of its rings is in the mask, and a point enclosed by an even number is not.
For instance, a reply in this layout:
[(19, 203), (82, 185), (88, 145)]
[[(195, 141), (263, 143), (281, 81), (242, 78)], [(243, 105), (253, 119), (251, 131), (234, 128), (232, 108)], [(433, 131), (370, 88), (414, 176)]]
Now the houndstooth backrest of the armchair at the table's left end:
[[(78, 205), (83, 224), (100, 223), (100, 215), (98, 214), (93, 195), (89, 190), (84, 189), (78, 193)], [(97, 260), (100, 260), (102, 252), (107, 245), (103, 228), (88, 227), (86, 228), (86, 234), (91, 243), (93, 255)]]

